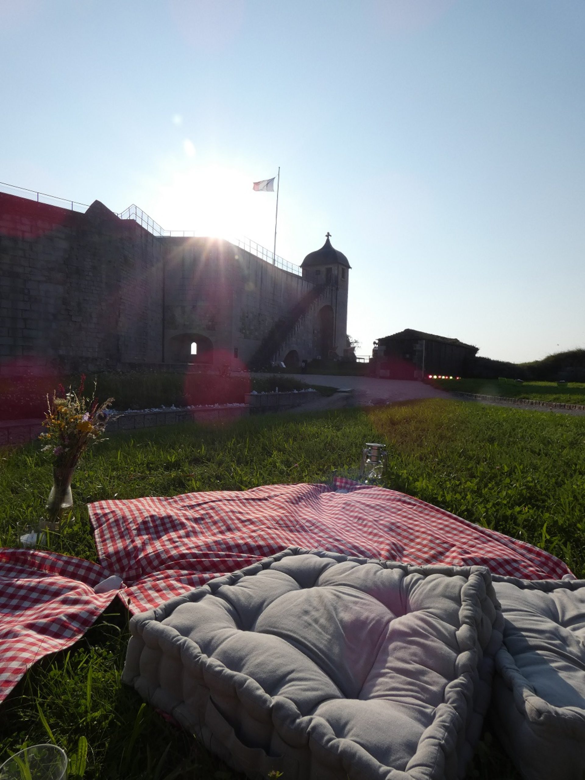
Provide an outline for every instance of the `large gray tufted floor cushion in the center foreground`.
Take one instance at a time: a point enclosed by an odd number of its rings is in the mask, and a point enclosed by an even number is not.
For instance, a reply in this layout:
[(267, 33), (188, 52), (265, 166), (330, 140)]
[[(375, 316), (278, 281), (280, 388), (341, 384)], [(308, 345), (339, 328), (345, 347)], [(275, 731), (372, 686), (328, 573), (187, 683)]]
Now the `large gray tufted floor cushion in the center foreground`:
[(463, 777), (502, 614), (480, 566), (297, 548), (130, 623), (123, 679), (251, 778)]

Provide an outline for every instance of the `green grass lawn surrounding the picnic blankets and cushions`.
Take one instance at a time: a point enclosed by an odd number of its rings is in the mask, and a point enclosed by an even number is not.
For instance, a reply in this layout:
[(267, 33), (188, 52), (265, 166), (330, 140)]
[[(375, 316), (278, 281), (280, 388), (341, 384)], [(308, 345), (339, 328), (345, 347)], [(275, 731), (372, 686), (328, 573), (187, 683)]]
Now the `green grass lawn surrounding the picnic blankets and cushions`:
[[(387, 487), (537, 544), (585, 576), (585, 417), (443, 400), (113, 434), (80, 463), (76, 519), (52, 547), (96, 559), (86, 502), (326, 480), (335, 468), (355, 473), (365, 441), (388, 444)], [(41, 515), (51, 474), (37, 444), (0, 459), (0, 545), (13, 546)], [(235, 777), (121, 685), (127, 640), (115, 602), (69, 652), (35, 665), (0, 707), (0, 761), (50, 729), (69, 756), (87, 739), (87, 778)], [(488, 734), (469, 777), (517, 776)]]

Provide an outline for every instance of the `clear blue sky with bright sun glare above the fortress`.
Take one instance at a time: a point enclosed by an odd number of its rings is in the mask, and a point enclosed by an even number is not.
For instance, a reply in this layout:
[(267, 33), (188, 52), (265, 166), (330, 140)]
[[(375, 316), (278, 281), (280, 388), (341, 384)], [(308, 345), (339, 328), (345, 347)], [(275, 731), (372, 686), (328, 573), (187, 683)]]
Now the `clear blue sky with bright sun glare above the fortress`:
[(583, 0), (0, 0), (0, 180), (349, 259), (348, 332), (585, 347)]

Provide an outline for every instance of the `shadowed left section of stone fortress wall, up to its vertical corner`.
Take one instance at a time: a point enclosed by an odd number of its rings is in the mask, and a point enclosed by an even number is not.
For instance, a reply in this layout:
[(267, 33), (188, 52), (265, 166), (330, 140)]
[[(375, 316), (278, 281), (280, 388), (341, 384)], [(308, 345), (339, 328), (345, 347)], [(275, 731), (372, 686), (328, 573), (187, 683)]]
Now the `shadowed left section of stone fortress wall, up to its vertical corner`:
[(0, 363), (158, 363), (161, 289), (161, 246), (136, 222), (0, 193)]

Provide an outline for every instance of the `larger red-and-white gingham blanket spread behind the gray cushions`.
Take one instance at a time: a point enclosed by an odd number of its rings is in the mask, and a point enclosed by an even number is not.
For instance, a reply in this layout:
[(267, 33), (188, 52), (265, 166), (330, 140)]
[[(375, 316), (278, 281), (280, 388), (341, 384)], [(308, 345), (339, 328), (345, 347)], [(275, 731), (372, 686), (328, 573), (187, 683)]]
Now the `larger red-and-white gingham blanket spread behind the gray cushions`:
[[(343, 490), (344, 492), (339, 492)], [(410, 564), (488, 566), (528, 580), (569, 573), (553, 555), (417, 498), (336, 480), (90, 505), (100, 560), (131, 612), (287, 547)], [(128, 601), (129, 600), (129, 601)]]

